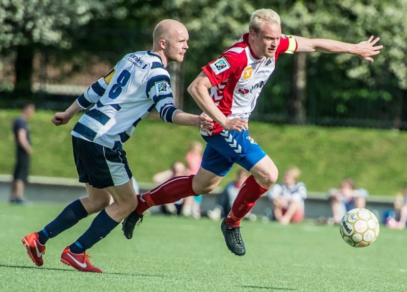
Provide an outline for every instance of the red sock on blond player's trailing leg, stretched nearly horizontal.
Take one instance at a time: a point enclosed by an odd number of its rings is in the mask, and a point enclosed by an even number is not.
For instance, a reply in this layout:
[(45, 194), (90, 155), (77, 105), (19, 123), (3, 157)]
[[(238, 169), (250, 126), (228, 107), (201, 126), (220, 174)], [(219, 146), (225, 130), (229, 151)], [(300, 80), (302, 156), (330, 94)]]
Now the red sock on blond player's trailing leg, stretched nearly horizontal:
[(173, 177), (146, 193), (138, 194), (136, 213), (141, 215), (151, 206), (169, 204), (182, 198), (197, 196), (192, 189), (194, 176)]

